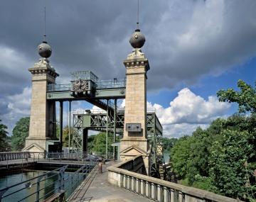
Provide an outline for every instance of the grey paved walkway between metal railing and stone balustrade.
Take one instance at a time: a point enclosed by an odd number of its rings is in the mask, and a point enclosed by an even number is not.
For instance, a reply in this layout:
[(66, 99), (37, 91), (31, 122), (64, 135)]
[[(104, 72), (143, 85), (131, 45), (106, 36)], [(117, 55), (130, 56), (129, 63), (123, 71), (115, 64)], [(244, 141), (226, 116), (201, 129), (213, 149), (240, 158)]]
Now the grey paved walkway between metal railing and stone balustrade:
[[(68, 201), (82, 202), (134, 202), (151, 201), (148, 198), (139, 196), (126, 189), (112, 186), (107, 182), (107, 166), (113, 164), (107, 162), (103, 167), (103, 174), (98, 173), (97, 169), (91, 172), (91, 176), (80, 184), (78, 189), (70, 196)], [(90, 178), (90, 179), (89, 179)]]

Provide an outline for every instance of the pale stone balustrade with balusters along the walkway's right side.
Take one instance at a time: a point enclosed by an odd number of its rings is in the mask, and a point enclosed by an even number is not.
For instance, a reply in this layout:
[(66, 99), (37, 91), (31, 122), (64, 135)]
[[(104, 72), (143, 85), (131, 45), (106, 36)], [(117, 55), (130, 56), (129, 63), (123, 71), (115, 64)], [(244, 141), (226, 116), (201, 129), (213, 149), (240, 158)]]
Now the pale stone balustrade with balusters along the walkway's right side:
[(233, 198), (220, 196), (209, 191), (174, 184), (129, 171), (136, 167), (133, 163), (138, 164), (138, 161), (143, 161), (142, 156), (108, 167), (108, 181), (110, 184), (160, 202), (238, 202)]

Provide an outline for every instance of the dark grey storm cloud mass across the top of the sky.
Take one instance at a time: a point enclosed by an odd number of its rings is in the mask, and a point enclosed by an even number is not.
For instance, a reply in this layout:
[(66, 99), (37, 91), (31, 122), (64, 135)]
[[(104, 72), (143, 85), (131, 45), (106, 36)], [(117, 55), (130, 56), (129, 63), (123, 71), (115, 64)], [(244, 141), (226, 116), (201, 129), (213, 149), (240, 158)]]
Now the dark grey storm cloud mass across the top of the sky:
[[(122, 60), (132, 50), (129, 35), (135, 27), (137, 1), (44, 2), (1, 1), (0, 44), (22, 52), (33, 65), (46, 4), (50, 61), (62, 78), (68, 80), (70, 72), (82, 69), (102, 79), (124, 77)], [(255, 5), (255, 1), (141, 0), (143, 50), (151, 64), (149, 89), (196, 82), (203, 74), (224, 71), (255, 55)], [(14, 85), (25, 79), (15, 79)]]

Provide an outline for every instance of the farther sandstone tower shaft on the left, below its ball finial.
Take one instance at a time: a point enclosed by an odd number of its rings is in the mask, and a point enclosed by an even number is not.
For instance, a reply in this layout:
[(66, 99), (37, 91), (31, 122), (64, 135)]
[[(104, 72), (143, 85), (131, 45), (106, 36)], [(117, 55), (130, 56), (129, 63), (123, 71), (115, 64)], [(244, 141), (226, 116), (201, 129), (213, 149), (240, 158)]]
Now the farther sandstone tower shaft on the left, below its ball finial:
[(48, 60), (42, 58), (28, 69), (32, 74), (32, 99), (29, 135), (23, 150), (43, 152), (48, 145), (56, 145), (55, 135), (55, 102), (47, 101), (47, 85), (54, 84), (59, 75), (55, 72)]

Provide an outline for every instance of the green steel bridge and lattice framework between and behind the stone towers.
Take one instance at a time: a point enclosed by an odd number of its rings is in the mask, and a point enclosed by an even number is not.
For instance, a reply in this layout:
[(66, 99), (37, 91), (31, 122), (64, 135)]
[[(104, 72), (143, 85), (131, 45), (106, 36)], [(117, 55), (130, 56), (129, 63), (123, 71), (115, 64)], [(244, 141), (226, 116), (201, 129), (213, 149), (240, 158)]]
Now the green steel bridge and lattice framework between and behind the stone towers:
[[(112, 133), (122, 137), (124, 130), (124, 108), (117, 109), (117, 99), (125, 99), (126, 79), (98, 80), (90, 71), (74, 72), (70, 84), (48, 84), (48, 101), (60, 102), (60, 137), (63, 136), (63, 101), (87, 101), (102, 111), (73, 112), (73, 127), (76, 129), (71, 146), (87, 152), (87, 130)], [(77, 82), (78, 81), (78, 82)], [(76, 86), (85, 86), (82, 93)], [(114, 103), (112, 102), (114, 100)], [(146, 116), (147, 137), (151, 144), (151, 175), (164, 178), (164, 156), (162, 151), (163, 128), (154, 110), (149, 109)], [(60, 138), (62, 140), (62, 138)]]

